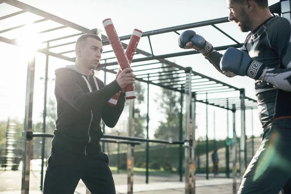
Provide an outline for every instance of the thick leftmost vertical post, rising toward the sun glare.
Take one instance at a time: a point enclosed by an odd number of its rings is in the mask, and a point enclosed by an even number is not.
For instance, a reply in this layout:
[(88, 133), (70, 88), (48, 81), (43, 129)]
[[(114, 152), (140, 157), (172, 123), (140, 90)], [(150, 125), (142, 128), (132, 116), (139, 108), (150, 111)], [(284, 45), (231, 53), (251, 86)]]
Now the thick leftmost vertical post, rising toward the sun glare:
[(32, 154), (32, 107), (33, 107), (33, 88), (34, 88), (34, 72), (35, 72), (35, 54), (28, 62), (27, 69), (27, 88), (26, 88), (26, 107), (25, 107), (25, 142), (24, 156), (22, 166), (22, 184), (21, 194), (29, 194), (30, 181), (30, 162)]

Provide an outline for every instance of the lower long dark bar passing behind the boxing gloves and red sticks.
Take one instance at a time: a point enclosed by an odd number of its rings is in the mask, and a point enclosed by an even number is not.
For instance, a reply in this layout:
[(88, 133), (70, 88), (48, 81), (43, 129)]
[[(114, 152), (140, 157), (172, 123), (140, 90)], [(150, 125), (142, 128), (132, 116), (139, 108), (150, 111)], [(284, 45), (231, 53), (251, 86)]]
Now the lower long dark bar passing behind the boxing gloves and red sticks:
[[(217, 50), (217, 51), (220, 51), (220, 50), (226, 50), (229, 47), (240, 48), (237, 44), (235, 44), (235, 45), (227, 45), (227, 46), (215, 47), (214, 49)], [(150, 55), (150, 56), (143, 57), (143, 58), (133, 59), (131, 63), (158, 60), (158, 59), (165, 59), (165, 58), (172, 58), (172, 57), (179, 57), (179, 56), (192, 55), (192, 54), (199, 54), (199, 52), (196, 51), (196, 50), (191, 50), (191, 51), (183, 51), (183, 52), (176, 52), (176, 53), (156, 55), (156, 56)], [(116, 61), (116, 62), (111, 62), (111, 63), (106, 63), (106, 64), (100, 64), (100, 67), (112, 66), (112, 65), (117, 65), (117, 64), (118, 63)]]

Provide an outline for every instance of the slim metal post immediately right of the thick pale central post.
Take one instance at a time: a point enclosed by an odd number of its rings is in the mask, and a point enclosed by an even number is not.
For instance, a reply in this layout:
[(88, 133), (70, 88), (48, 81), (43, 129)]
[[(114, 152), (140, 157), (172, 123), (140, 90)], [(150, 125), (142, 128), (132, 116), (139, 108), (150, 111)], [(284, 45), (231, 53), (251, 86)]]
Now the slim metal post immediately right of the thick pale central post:
[[(196, 96), (193, 93), (192, 94), (192, 105), (191, 105), (191, 112), (192, 112), (192, 134), (191, 134), (191, 140), (192, 140), (192, 146), (191, 146), (191, 177), (192, 177), (192, 184), (191, 184), (191, 194), (195, 194), (195, 172), (196, 172), (196, 162), (195, 162), (195, 147), (196, 147), (196, 142), (195, 142), (195, 129), (196, 129)], [(191, 144), (190, 144), (191, 145)]]

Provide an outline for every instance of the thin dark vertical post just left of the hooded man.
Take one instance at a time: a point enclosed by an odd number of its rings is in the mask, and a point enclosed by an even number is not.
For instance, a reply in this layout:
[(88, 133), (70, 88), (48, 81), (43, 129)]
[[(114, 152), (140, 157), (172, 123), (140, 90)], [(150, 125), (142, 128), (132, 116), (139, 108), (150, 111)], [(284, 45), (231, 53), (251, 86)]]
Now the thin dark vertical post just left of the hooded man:
[[(47, 50), (49, 50), (49, 43), (47, 43)], [(43, 130), (42, 130), (43, 133), (46, 132), (48, 73), (49, 73), (49, 55), (47, 54), (47, 55), (46, 55), (46, 75), (45, 75), (45, 94), (44, 94)], [(43, 191), (45, 144), (46, 144), (46, 138), (43, 137), (43, 138), (42, 138), (42, 145), (41, 145), (40, 191)]]

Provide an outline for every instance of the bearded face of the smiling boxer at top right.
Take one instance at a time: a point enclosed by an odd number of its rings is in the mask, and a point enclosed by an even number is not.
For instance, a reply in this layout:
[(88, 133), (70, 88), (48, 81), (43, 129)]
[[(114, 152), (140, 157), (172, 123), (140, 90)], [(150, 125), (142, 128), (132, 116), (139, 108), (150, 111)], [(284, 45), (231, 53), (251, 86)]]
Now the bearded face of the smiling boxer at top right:
[(234, 21), (238, 24), (242, 32), (249, 32), (251, 30), (252, 21), (248, 15), (246, 3), (232, 2), (233, 0), (227, 0), (227, 7), (229, 9), (229, 21)]

